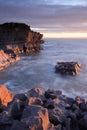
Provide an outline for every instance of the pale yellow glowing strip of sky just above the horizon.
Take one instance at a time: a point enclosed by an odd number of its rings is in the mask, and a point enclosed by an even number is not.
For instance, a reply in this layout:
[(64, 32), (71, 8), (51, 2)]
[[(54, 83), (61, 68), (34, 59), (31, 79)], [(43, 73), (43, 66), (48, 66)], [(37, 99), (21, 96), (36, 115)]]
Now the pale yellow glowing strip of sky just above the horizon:
[(87, 33), (44, 33), (44, 38), (87, 38)]

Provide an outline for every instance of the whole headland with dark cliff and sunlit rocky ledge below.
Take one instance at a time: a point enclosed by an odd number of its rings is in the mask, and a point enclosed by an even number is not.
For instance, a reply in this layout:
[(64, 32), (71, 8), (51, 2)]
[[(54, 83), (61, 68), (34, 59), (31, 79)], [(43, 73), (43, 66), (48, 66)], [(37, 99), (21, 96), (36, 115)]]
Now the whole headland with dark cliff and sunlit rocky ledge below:
[(24, 23), (0, 24), (0, 70), (20, 60), (20, 54), (39, 52), (43, 34)]

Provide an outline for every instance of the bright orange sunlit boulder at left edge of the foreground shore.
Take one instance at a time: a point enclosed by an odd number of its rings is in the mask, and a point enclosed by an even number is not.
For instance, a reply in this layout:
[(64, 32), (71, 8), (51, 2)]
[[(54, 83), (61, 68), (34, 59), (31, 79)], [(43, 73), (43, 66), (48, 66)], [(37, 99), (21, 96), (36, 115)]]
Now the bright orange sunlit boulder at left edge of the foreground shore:
[(0, 85), (0, 100), (4, 106), (13, 100), (14, 95), (7, 89), (6, 86)]

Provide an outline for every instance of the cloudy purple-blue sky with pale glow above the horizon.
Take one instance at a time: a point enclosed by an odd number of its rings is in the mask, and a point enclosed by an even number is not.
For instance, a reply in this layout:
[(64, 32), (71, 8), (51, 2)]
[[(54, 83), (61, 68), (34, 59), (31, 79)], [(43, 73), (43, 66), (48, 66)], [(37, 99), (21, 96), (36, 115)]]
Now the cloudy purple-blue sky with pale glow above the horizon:
[(87, 0), (0, 0), (4, 22), (26, 23), (47, 38), (87, 38)]

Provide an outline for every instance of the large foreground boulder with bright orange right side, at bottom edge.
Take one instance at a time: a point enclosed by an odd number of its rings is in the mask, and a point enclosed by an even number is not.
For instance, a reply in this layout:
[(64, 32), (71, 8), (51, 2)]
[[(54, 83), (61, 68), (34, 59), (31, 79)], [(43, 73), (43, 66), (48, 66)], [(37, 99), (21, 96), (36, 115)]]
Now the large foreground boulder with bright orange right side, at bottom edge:
[(21, 121), (26, 123), (29, 130), (47, 130), (49, 126), (48, 111), (40, 106), (29, 105), (24, 109)]

